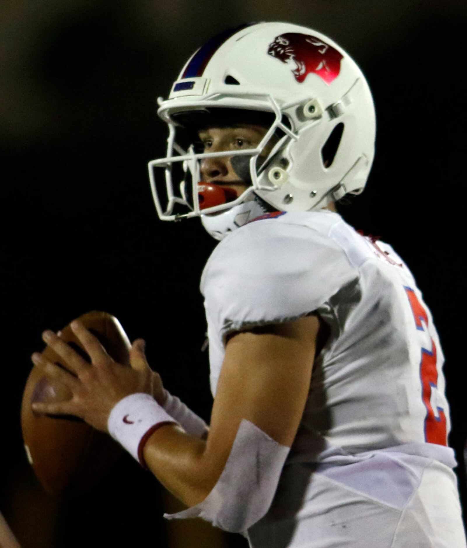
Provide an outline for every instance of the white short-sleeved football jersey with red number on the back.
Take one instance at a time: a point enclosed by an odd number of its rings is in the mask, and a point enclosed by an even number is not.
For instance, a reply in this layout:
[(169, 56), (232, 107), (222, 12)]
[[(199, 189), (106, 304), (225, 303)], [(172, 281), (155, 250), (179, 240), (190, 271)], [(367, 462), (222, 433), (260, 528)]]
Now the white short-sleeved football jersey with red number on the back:
[(397, 448), (456, 466), (439, 337), (388, 244), (328, 210), (275, 215), (218, 244), (201, 292), (214, 396), (229, 333), (311, 312), (329, 326), (287, 462)]

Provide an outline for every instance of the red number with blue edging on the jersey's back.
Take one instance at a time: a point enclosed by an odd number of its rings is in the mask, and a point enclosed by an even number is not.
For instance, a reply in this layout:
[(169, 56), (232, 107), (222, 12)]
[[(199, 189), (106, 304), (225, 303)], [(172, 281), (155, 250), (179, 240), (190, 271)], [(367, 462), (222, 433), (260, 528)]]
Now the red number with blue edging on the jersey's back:
[[(424, 331), (422, 319), (428, 327), (428, 315), (417, 299), (417, 295), (410, 287), (404, 287), (408, 301), (412, 308), (415, 325), (418, 330)], [(436, 369), (436, 345), (430, 337), (431, 350), (422, 347), (420, 361), (420, 380), (422, 381), (422, 399), (426, 407), (425, 442), (447, 446), (446, 415), (442, 407), (437, 406), (438, 370)], [(436, 413), (435, 410), (436, 409)]]

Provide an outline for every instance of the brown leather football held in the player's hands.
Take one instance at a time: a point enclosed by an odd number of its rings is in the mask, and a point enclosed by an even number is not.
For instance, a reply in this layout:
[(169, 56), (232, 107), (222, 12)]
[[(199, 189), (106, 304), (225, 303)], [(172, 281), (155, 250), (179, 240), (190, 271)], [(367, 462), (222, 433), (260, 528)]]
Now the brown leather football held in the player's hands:
[[(116, 362), (129, 366), (131, 345), (117, 318), (107, 312), (88, 312), (77, 319), (100, 340)], [(61, 330), (61, 339), (89, 361), (70, 324)], [(66, 368), (49, 346), (42, 355)], [(32, 402), (57, 402), (70, 397), (66, 387), (49, 379), (38, 366), (32, 368), (22, 398), (22, 435), (27, 458), (37, 478), (44, 489), (55, 496), (76, 496), (88, 491), (123, 454), (123, 449), (110, 436), (82, 419), (70, 415), (39, 415), (31, 408)]]

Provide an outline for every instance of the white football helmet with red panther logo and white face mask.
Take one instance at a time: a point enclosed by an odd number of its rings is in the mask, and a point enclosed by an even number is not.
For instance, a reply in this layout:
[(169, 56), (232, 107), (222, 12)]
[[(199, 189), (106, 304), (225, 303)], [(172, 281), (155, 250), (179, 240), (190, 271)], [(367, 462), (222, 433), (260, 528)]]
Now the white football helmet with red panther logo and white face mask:
[[(162, 220), (200, 216), (211, 236), (222, 239), (268, 210), (324, 208), (364, 190), (376, 132), (370, 88), (350, 56), (318, 31), (262, 22), (223, 32), (194, 53), (169, 99), (158, 102), (169, 125), (167, 156), (148, 168)], [(269, 130), (256, 149), (200, 153), (189, 138), (179, 138), (183, 117), (215, 117), (215, 109), (241, 109), (243, 119), (247, 111), (269, 113)], [(260, 165), (272, 135), (279, 141)], [(216, 156), (243, 157), (251, 186), (240, 196), (201, 181), (200, 160)], [(164, 168), (165, 185), (156, 168)], [(206, 191), (214, 198), (203, 201)]]

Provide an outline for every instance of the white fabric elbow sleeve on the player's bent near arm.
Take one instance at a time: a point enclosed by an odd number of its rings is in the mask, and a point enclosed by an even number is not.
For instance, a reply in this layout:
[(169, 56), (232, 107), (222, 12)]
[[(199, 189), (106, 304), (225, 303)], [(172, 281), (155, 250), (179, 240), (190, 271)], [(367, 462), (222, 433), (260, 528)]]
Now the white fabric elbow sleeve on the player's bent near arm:
[(168, 520), (200, 517), (230, 533), (244, 533), (269, 510), (290, 447), (243, 419), (226, 466), (211, 493)]

